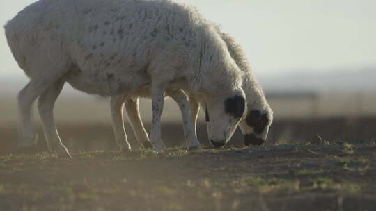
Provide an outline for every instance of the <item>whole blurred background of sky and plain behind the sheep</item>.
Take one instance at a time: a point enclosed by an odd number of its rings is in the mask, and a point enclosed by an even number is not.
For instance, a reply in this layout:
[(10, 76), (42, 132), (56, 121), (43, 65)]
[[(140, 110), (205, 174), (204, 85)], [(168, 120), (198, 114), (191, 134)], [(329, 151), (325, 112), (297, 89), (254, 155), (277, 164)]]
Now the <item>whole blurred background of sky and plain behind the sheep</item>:
[[(183, 1), (183, 0), (181, 0)], [(268, 142), (376, 140), (376, 1), (185, 0), (220, 24), (244, 48), (274, 110)], [(33, 0), (0, 1), (3, 26)], [(0, 28), (0, 153), (17, 140), (15, 96), (28, 79)], [(150, 101), (141, 101), (150, 126)], [(36, 112), (36, 121), (38, 115)], [(70, 149), (116, 149), (108, 99), (66, 84), (55, 107), (58, 129)], [(126, 120), (127, 121), (127, 120)], [(183, 146), (178, 106), (166, 101), (162, 133)], [(131, 143), (136, 143), (127, 125)], [(45, 147), (36, 124), (40, 147)], [(198, 138), (207, 143), (203, 112)], [(230, 144), (242, 144), (238, 130)]]

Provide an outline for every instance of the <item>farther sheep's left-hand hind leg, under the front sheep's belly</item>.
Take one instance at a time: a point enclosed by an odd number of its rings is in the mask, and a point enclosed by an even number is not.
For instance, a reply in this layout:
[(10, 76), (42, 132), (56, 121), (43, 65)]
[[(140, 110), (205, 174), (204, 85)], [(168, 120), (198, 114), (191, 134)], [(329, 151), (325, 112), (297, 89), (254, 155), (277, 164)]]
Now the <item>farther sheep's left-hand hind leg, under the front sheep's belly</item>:
[(123, 107), (125, 99), (127, 99), (127, 95), (112, 96), (110, 100), (113, 133), (122, 152), (132, 150), (124, 128)]

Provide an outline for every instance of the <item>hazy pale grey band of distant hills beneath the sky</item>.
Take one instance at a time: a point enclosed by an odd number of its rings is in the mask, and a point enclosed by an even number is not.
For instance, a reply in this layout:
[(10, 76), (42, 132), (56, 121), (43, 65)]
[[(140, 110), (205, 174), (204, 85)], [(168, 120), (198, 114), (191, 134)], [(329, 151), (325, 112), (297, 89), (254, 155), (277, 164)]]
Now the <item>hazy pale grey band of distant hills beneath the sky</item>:
[[(255, 74), (267, 94), (283, 92), (315, 92), (318, 94), (324, 92), (376, 92), (376, 66), (341, 68), (327, 72), (306, 69), (306, 71), (289, 71), (287, 73)], [(28, 81), (29, 78), (24, 76), (23, 72), (22, 76), (14, 74), (1, 76), (0, 94), (15, 94)], [(84, 92), (75, 90), (68, 83), (65, 83), (63, 93), (77, 96)]]

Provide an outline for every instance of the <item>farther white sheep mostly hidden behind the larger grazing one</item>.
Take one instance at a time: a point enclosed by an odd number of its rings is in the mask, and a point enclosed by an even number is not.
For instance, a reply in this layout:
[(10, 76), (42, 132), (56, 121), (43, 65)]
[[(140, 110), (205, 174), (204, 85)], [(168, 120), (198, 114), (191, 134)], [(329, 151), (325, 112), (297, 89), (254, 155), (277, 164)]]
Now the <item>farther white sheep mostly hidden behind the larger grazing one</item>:
[[(244, 72), (242, 78), (242, 88), (246, 95), (247, 110), (246, 117), (242, 118), (239, 124), (240, 129), (244, 134), (244, 144), (247, 146), (263, 144), (267, 137), (269, 126), (273, 121), (272, 109), (265, 99), (262, 87), (259, 85), (259, 83), (256, 81), (255, 76), (253, 76), (252, 74), (251, 67), (242, 47), (235, 42), (233, 37), (226, 33), (222, 33), (221, 29), (218, 26), (217, 30), (219, 35), (221, 35), (221, 38), (225, 41), (226, 46), (230, 51), (231, 57), (235, 60), (237, 66), (240, 67), (240, 69)], [(147, 94), (142, 96), (148, 97)], [(191, 119), (194, 123), (194, 137), (196, 137), (196, 121), (200, 108), (200, 103), (196, 98), (197, 97), (195, 97), (194, 94), (189, 94)], [(150, 148), (148, 134), (143, 127), (141, 117), (139, 115), (138, 97), (133, 96), (130, 99), (124, 100), (127, 103), (127, 115), (130, 119), (130, 123), (134, 130), (134, 134), (136, 135), (136, 139), (144, 147)], [(205, 104), (203, 104), (203, 107), (205, 107)], [(207, 112), (205, 112), (205, 116), (206, 121), (209, 121), (210, 118)], [(191, 128), (186, 128), (186, 125), (183, 125), (183, 128), (185, 128), (185, 130), (187, 131), (191, 131)], [(207, 128), (210, 130), (210, 124), (207, 125)], [(188, 149), (191, 147), (199, 147), (199, 145), (192, 145), (191, 143), (196, 144), (196, 142), (192, 142), (189, 139), (186, 139), (186, 142)]]

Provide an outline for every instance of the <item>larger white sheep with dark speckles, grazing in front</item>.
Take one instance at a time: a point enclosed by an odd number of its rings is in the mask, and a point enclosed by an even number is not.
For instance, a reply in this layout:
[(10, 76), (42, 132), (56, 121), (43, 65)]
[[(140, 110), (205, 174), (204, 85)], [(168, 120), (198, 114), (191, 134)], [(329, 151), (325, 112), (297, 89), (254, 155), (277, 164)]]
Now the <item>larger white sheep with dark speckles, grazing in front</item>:
[[(59, 156), (70, 156), (52, 112), (65, 81), (102, 96), (132, 95), (149, 87), (150, 139), (157, 151), (164, 149), (160, 117), (167, 88), (201, 96), (217, 146), (230, 139), (246, 109), (243, 73), (226, 44), (212, 24), (181, 3), (40, 0), (19, 12), (5, 31), (15, 60), (31, 78), (17, 97), (20, 150), (33, 148), (31, 107), (39, 97), (49, 146)], [(121, 106), (112, 102), (119, 112)], [(116, 112), (113, 117), (121, 128), (122, 118), (116, 119)]]

